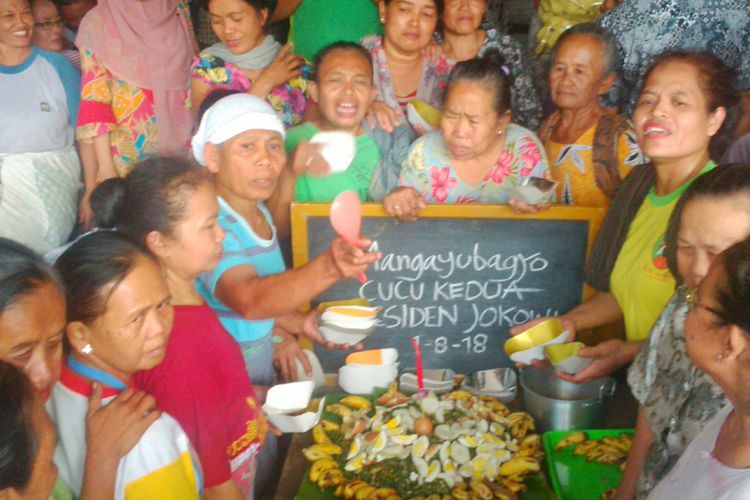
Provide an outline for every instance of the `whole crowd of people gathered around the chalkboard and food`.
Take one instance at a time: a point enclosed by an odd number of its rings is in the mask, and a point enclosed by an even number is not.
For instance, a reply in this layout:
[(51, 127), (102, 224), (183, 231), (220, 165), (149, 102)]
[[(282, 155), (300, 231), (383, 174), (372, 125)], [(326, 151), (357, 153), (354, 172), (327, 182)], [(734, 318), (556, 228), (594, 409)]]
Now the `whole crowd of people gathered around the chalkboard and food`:
[(360, 347), (300, 308), (370, 241), (283, 257), (291, 203), (347, 190), (405, 222), (606, 209), (560, 319), (625, 339), (558, 376), (629, 366), (618, 498), (750, 495), (750, 8), (598, 3), (539, 85), (485, 0), (0, 0), (0, 498), (267, 495), (267, 389), (310, 370), (301, 337)]

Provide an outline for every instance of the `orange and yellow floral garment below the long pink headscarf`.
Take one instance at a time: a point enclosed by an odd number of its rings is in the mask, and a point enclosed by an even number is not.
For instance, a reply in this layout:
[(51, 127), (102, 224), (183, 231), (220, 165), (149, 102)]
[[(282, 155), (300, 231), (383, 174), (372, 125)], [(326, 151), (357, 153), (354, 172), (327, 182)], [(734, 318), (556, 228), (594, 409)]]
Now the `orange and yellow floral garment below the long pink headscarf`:
[(90, 50), (81, 57), (78, 140), (109, 132), (115, 170), (127, 175), (135, 163), (158, 153), (154, 94), (114, 76)]

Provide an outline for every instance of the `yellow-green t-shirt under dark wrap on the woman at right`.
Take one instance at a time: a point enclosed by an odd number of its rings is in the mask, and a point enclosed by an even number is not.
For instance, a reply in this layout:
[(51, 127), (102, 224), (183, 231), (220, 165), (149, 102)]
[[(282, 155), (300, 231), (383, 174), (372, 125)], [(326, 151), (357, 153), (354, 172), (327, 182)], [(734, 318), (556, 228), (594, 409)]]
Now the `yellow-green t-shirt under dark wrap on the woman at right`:
[[(698, 175), (714, 166), (708, 162)], [(656, 318), (674, 294), (675, 280), (664, 255), (664, 233), (677, 200), (690, 182), (665, 196), (657, 196), (651, 188), (630, 224), (612, 269), (610, 291), (622, 309), (629, 341), (648, 337)]]

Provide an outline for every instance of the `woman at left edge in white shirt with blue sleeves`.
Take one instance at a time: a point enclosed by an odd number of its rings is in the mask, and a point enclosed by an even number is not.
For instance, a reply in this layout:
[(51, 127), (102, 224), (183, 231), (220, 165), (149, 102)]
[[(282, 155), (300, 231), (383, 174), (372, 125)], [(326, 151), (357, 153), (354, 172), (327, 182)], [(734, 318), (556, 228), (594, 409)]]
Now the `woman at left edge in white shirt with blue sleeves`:
[(81, 77), (62, 55), (34, 47), (33, 31), (28, 0), (0, 0), (0, 236), (45, 253), (76, 221)]

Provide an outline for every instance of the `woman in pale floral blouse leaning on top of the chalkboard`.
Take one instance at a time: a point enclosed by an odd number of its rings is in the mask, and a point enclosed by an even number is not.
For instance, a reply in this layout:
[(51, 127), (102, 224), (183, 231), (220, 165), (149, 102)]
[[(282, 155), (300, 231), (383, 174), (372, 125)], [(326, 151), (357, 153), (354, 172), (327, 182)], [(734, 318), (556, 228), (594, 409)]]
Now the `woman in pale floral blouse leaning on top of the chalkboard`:
[(446, 91), (440, 131), (417, 139), (401, 167), (399, 184), (383, 200), (386, 211), (414, 220), (427, 203), (511, 203), (508, 187), (543, 177), (547, 158), (539, 139), (511, 123), (510, 84), (501, 56), (460, 62)]

